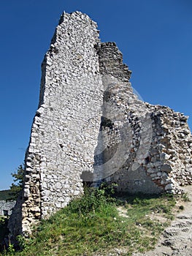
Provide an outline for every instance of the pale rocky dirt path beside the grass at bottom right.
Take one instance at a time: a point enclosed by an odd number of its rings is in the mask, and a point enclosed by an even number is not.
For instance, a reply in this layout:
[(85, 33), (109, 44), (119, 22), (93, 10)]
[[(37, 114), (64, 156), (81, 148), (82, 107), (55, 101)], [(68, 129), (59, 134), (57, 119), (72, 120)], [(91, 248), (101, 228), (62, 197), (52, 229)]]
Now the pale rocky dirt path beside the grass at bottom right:
[(191, 201), (182, 203), (184, 210), (176, 214), (153, 251), (133, 256), (192, 256), (192, 186), (183, 189)]

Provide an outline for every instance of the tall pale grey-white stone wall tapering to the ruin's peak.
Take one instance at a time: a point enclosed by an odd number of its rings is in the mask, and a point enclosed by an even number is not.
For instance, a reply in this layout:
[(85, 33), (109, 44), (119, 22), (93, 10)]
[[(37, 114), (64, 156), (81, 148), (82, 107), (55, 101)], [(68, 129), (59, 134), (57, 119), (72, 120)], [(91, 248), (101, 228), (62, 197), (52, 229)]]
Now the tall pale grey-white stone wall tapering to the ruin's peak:
[(87, 15), (64, 14), (42, 63), (26, 156), (23, 231), (80, 195), (82, 170), (93, 170), (103, 94), (98, 41), (96, 23)]

